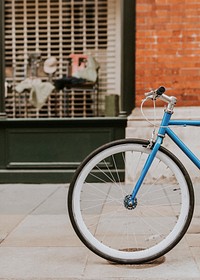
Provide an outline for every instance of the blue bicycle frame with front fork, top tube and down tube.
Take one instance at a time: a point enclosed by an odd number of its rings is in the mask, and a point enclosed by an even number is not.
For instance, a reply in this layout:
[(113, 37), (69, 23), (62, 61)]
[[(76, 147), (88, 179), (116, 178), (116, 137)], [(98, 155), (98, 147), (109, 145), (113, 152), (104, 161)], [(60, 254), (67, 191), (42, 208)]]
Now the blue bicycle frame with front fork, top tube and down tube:
[(192, 120), (170, 120), (172, 114), (169, 112), (165, 112), (159, 131), (158, 136), (155, 141), (155, 144), (153, 145), (152, 151), (149, 154), (146, 163), (144, 165), (144, 168), (141, 172), (140, 178), (137, 181), (135, 188), (133, 190), (133, 193), (131, 195), (131, 201), (134, 203), (136, 199), (136, 195), (139, 191), (140, 186), (142, 185), (142, 182), (151, 166), (151, 163), (153, 162), (157, 151), (159, 150), (163, 138), (167, 134), (174, 143), (186, 154), (186, 156), (200, 169), (200, 159), (198, 159), (194, 153), (180, 140), (180, 138), (168, 127), (169, 125), (177, 125), (177, 126), (200, 126), (200, 121), (192, 121)]

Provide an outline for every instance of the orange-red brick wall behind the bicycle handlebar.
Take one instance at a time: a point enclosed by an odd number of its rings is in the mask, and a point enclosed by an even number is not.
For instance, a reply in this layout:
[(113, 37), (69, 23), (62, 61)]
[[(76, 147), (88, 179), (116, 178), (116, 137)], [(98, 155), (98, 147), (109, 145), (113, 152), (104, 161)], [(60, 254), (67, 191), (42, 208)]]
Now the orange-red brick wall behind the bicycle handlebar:
[(136, 106), (160, 85), (200, 105), (200, 0), (136, 0)]

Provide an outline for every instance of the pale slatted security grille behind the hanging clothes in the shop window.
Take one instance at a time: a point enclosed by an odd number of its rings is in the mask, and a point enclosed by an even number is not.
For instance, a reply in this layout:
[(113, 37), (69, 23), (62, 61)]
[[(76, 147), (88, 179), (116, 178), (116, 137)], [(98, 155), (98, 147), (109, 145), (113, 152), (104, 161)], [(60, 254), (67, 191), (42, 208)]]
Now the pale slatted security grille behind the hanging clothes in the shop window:
[[(104, 115), (105, 95), (119, 94), (116, 3), (116, 0), (5, 0), (8, 117)], [(16, 91), (28, 77), (54, 84), (55, 80), (68, 76), (70, 54), (86, 54), (96, 59), (100, 66), (97, 82), (54, 89), (41, 108), (31, 104), (30, 89)], [(43, 71), (44, 61), (49, 57), (57, 59), (57, 70), (52, 75)]]

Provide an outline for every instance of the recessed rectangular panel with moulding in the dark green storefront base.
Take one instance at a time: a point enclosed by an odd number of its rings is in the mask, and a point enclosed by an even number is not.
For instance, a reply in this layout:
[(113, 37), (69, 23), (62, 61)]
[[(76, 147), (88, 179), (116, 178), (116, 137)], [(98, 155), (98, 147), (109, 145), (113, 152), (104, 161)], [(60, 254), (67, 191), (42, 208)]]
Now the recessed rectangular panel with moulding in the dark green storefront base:
[(8, 129), (7, 167), (76, 167), (112, 139), (111, 129)]

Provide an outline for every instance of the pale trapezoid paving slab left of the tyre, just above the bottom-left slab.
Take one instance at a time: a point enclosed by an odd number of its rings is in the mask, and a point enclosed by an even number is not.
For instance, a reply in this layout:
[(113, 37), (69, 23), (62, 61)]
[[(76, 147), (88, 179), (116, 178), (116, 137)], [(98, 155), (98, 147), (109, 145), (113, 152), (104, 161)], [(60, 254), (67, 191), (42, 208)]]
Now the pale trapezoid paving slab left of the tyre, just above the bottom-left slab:
[(2, 243), (2, 247), (79, 246), (68, 216), (29, 215)]

